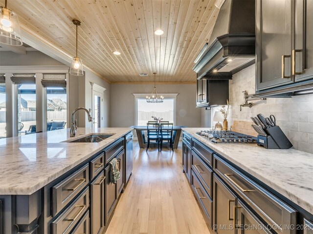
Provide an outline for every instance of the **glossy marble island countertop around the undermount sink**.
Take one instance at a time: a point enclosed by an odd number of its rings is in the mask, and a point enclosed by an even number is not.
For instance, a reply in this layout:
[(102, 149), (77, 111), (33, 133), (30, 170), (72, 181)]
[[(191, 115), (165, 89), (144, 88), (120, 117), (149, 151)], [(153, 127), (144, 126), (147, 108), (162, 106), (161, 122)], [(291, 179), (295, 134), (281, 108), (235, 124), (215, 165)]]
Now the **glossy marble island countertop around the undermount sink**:
[[(133, 128), (69, 128), (0, 139), (0, 195), (30, 195)], [(68, 143), (91, 133), (114, 134), (98, 143)]]

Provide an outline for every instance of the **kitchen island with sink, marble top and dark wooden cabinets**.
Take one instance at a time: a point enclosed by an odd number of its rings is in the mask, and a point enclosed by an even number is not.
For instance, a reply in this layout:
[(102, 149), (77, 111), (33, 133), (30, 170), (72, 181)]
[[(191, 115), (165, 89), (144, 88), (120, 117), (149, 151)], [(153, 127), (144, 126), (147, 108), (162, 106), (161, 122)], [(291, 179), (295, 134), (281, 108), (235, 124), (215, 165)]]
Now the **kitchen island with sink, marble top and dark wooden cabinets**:
[[(91, 230), (102, 230), (127, 182), (124, 137), (132, 130), (78, 128), (76, 137), (69, 137), (69, 129), (62, 129), (0, 139), (0, 232), (85, 231), (89, 216)], [(91, 134), (108, 138), (97, 143), (70, 142)], [(116, 184), (110, 181), (113, 158), (121, 174)], [(93, 204), (101, 207), (99, 211), (92, 209)], [(92, 219), (93, 212), (99, 215)]]

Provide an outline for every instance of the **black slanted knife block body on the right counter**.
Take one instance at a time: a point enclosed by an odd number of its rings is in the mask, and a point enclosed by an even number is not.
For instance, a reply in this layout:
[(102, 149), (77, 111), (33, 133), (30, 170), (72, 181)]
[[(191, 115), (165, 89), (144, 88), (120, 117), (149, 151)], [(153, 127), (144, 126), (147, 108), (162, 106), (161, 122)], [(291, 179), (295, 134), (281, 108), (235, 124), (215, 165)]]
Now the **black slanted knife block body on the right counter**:
[(258, 136), (257, 143), (266, 149), (289, 149), (292, 147), (290, 140), (286, 137), (279, 126), (265, 128), (268, 136)]

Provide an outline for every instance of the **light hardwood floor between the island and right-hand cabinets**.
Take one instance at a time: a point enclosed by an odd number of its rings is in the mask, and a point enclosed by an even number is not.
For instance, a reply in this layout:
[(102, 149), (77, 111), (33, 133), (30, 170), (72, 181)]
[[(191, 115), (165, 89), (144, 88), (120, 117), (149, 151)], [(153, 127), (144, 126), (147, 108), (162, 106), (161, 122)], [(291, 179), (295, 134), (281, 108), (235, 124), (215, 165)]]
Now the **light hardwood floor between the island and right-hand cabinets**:
[(139, 149), (106, 234), (210, 234), (182, 172), (181, 142), (169, 149)]

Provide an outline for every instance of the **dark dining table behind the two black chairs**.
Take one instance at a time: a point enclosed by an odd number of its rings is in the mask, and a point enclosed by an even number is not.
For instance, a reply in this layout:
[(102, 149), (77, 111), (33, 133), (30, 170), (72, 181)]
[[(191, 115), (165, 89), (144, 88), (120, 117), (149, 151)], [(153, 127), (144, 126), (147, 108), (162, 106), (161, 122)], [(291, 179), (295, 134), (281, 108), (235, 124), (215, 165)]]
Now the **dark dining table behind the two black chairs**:
[[(134, 130), (136, 130), (139, 147), (140, 148), (147, 147), (147, 141), (146, 141), (146, 137), (145, 137), (145, 131), (147, 131), (147, 126), (135, 125), (135, 126), (132, 126), (132, 128), (134, 128)], [(186, 128), (186, 126), (173, 126), (173, 142), (174, 142), (173, 148), (174, 149), (178, 148), (179, 137), (181, 134), (181, 128)], [(150, 143), (150, 145), (151, 144), (152, 143)]]

